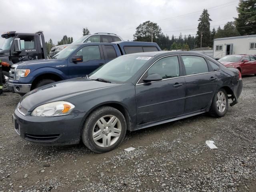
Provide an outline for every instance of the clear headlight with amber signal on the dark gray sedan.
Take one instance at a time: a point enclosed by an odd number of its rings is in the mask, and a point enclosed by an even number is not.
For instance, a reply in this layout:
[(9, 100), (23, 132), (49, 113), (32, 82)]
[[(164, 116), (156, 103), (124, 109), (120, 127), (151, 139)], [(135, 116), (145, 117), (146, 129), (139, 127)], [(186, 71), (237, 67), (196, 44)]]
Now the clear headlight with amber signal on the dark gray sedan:
[(56, 101), (38, 106), (31, 115), (45, 117), (62, 116), (70, 114), (74, 108), (75, 106), (70, 102)]

